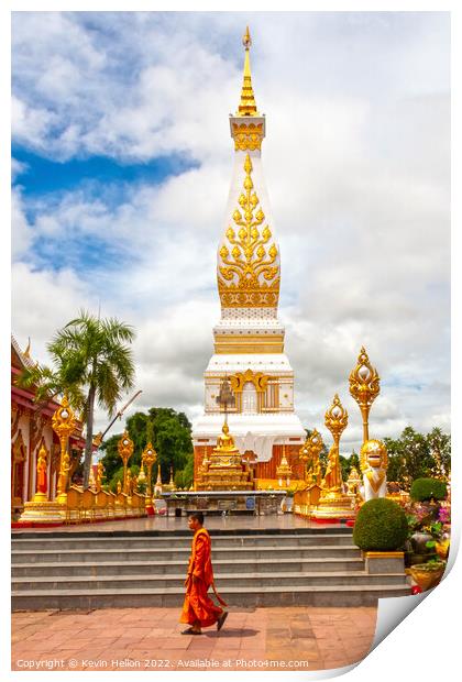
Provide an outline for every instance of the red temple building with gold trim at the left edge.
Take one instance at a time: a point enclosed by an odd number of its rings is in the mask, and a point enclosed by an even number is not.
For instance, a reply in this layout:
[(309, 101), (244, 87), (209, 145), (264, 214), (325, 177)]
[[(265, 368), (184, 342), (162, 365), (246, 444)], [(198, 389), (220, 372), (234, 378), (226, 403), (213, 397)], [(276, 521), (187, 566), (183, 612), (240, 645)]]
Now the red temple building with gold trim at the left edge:
[[(59, 471), (59, 439), (52, 428), (52, 416), (59, 407), (58, 403), (47, 400), (37, 405), (33, 388), (20, 388), (16, 377), (34, 361), (30, 355), (30, 345), (21, 351), (16, 340), (11, 337), (11, 518), (15, 520), (24, 510), (24, 503), (30, 502), (36, 492), (37, 455), (44, 444), (46, 458), (47, 498), (56, 497)], [(69, 439), (72, 479), (85, 448), (81, 424)]]

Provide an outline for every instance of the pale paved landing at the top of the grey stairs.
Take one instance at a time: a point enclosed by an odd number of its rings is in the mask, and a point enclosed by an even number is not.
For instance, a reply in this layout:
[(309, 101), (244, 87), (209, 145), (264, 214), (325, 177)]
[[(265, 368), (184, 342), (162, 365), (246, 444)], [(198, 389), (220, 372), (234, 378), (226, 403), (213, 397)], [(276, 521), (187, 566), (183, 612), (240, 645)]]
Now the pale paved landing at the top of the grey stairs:
[[(344, 524), (317, 524), (310, 521), (296, 514), (271, 514), (267, 516), (207, 516), (206, 526), (211, 530), (216, 529), (262, 529), (262, 528), (278, 528), (284, 530), (290, 530), (294, 528), (344, 528)], [(57, 526), (55, 528), (13, 528), (11, 530), (14, 536), (15, 532), (33, 532), (37, 530), (40, 532), (81, 532), (81, 531), (98, 531), (98, 530), (123, 530), (123, 531), (142, 531), (142, 530), (188, 530), (188, 519), (186, 516), (182, 518), (175, 518), (174, 516), (150, 516), (145, 518), (132, 518), (128, 520), (118, 521), (101, 521), (98, 524), (75, 524), (72, 526)]]

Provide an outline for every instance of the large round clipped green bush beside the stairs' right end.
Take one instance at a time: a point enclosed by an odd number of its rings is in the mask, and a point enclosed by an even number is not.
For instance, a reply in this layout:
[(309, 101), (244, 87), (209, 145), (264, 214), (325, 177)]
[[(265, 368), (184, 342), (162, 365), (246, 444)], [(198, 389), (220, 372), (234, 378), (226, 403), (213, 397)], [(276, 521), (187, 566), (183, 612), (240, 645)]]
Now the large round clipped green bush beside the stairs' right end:
[(395, 551), (407, 539), (406, 513), (393, 499), (378, 497), (361, 507), (353, 529), (354, 543), (364, 551)]

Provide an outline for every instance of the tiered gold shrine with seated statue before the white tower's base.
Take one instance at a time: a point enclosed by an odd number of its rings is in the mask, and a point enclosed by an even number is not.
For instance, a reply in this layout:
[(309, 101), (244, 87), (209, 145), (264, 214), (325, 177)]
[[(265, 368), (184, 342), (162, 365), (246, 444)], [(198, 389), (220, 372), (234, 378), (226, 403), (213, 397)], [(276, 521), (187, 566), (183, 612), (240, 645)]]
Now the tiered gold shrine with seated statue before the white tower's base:
[(242, 462), (227, 422), (210, 459), (205, 455), (196, 482), (197, 491), (252, 491), (252, 475)]

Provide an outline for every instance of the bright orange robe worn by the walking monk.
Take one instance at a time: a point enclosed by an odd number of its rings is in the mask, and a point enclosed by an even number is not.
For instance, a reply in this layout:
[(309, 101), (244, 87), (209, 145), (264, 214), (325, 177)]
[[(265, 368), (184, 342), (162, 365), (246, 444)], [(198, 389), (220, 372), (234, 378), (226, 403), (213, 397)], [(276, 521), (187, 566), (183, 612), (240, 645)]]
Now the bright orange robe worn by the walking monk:
[[(196, 582), (193, 582), (193, 575), (196, 576)], [(202, 627), (217, 623), (223, 609), (216, 606), (207, 594), (212, 584), (210, 536), (205, 528), (199, 528), (193, 538), (180, 623), (188, 623), (189, 625), (199, 623)]]

